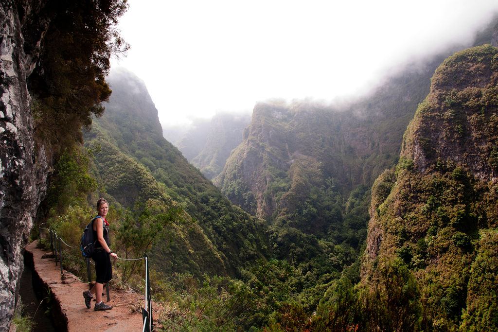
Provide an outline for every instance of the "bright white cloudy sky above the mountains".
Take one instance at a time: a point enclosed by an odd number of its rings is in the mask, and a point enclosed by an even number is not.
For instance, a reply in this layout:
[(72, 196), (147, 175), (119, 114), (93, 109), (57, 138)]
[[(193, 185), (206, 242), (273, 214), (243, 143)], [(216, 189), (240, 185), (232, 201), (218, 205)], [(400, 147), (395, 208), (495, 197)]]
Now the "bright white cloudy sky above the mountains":
[(497, 0), (128, 0), (113, 61), (142, 79), (164, 126), (258, 101), (332, 101), (489, 23)]

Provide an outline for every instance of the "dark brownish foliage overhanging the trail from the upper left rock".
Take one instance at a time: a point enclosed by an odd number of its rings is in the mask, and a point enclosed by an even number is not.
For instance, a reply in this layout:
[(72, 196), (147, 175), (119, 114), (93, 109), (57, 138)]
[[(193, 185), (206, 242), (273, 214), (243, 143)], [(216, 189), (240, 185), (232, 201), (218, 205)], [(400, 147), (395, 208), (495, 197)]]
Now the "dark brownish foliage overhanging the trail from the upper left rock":
[[(101, 115), (111, 90), (105, 82), (113, 53), (127, 45), (116, 31), (125, 0), (44, 1), (39, 16), (48, 29), (41, 42), (38, 65), (28, 78), (33, 117), (39, 138), (54, 157), (82, 142), (81, 127)], [(35, 28), (24, 27), (26, 36)]]

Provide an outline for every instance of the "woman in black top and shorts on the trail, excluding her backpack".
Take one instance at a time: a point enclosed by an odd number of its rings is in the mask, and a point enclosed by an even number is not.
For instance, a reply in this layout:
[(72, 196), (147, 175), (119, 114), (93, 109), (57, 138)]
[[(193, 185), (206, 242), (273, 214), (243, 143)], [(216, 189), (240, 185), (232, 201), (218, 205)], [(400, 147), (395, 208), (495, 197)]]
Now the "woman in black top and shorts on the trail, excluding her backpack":
[(93, 220), (94, 238), (97, 241), (95, 243), (95, 252), (92, 255), (97, 277), (95, 279), (95, 286), (91, 290), (83, 292), (85, 305), (90, 309), (93, 299), (92, 291), (95, 290), (95, 311), (113, 309), (113, 306), (102, 302), (102, 290), (104, 289), (104, 284), (109, 282), (113, 277), (113, 266), (110, 257), (114, 257), (114, 260), (118, 258), (118, 255), (109, 248), (111, 244), (109, 240), (109, 222), (106, 220), (109, 204), (104, 198), (100, 198), (97, 201), (97, 211), (99, 214)]

